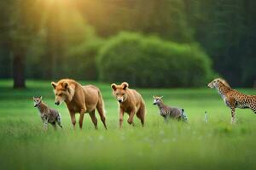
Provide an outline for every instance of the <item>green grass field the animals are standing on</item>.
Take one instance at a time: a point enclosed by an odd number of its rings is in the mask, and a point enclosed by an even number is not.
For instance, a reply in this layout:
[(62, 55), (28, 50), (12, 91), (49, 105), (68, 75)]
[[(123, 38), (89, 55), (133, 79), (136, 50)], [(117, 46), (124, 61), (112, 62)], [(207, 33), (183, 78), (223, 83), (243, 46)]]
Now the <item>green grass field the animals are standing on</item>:
[[(236, 110), (237, 123), (231, 125), (230, 109), (215, 90), (137, 89), (146, 101), (146, 125), (141, 127), (136, 118), (136, 127), (125, 121), (119, 129), (111, 88), (91, 83), (102, 90), (108, 131), (99, 119), (95, 130), (88, 114), (83, 130), (73, 130), (66, 105), (54, 105), (50, 82), (29, 81), (26, 90), (14, 90), (11, 81), (1, 81), (0, 169), (256, 169), (256, 115)], [(255, 89), (240, 90), (256, 94)], [(43, 95), (61, 112), (62, 130), (44, 131), (33, 95)], [(164, 122), (152, 95), (183, 107), (189, 123)]]

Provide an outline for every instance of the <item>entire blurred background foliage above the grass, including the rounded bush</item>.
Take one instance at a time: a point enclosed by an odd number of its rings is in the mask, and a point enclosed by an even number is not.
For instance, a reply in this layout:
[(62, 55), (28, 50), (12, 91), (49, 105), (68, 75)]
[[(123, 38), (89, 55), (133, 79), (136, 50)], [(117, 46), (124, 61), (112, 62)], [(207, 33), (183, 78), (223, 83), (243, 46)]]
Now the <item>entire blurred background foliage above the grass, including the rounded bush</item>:
[(0, 2), (0, 78), (71, 77), (140, 87), (256, 80), (253, 0)]

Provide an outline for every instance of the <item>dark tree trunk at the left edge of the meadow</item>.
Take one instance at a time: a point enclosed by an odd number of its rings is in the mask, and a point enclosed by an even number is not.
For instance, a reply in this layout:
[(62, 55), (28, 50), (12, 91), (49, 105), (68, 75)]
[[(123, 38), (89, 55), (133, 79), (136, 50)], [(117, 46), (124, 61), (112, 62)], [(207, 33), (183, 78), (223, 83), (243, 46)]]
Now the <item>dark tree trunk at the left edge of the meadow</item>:
[(26, 88), (25, 83), (25, 54), (23, 52), (14, 54), (14, 88)]

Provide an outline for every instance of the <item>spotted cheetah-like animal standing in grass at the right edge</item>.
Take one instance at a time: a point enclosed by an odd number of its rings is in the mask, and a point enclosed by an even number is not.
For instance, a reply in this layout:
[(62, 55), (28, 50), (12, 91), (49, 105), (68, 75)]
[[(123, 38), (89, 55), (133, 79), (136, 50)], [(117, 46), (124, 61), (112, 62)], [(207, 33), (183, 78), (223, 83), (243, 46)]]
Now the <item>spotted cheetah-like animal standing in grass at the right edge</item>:
[(218, 94), (224, 99), (224, 103), (231, 109), (231, 122), (236, 122), (236, 108), (250, 108), (256, 113), (256, 95), (241, 94), (235, 89), (230, 88), (230, 85), (221, 78), (216, 78), (208, 84), (209, 88), (216, 88)]

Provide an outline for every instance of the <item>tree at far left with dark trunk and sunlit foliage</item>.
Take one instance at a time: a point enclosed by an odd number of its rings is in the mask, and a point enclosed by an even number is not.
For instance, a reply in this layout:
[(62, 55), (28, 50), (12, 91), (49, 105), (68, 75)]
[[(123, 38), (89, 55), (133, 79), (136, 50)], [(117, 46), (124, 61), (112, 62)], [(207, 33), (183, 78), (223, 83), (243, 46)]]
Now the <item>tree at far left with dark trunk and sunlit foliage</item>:
[[(14, 88), (25, 88), (25, 62), (26, 52), (29, 44), (38, 30), (39, 12), (32, 0), (10, 0), (0, 3), (3, 9), (1, 13), (5, 16), (1, 24), (1, 39), (4, 47), (8, 46), (9, 54), (12, 56)], [(8, 53), (8, 52), (7, 52)]]

